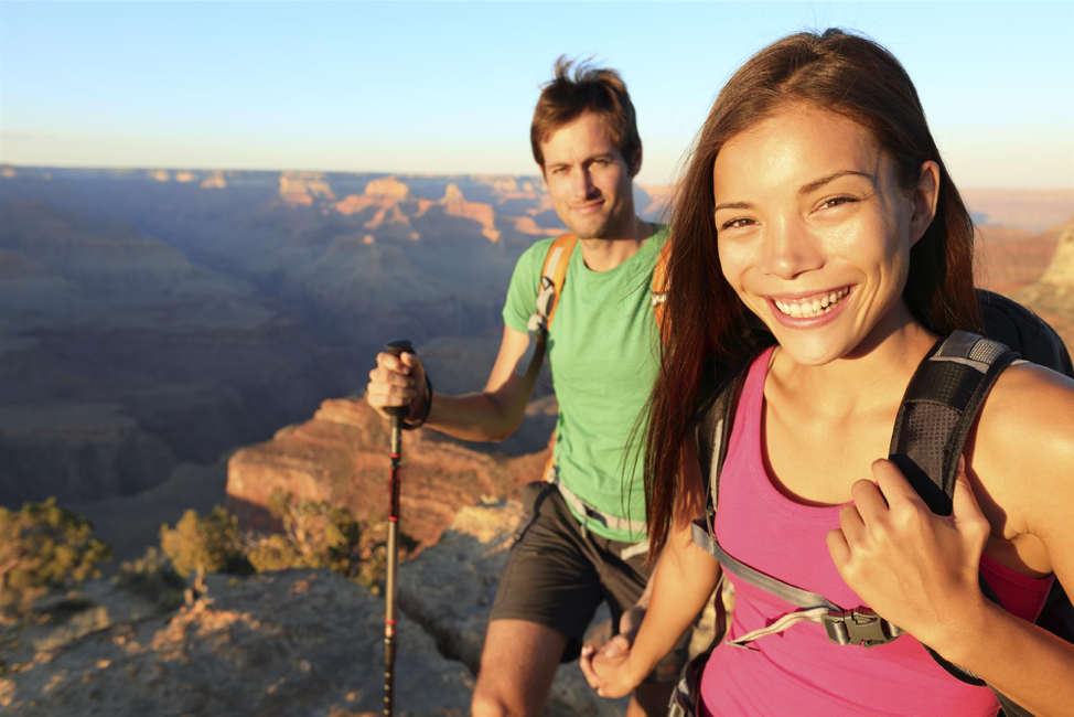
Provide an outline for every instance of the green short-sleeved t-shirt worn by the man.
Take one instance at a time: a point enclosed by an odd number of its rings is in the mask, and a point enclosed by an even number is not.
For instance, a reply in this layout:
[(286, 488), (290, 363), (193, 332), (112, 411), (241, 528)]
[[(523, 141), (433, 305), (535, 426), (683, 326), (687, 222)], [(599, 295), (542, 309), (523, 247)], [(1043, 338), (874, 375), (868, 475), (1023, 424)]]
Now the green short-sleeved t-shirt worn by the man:
[[(589, 269), (577, 245), (548, 333), (547, 355), (559, 402), (554, 448), (559, 478), (602, 513), (638, 522), (645, 520), (645, 491), (637, 451), (643, 427), (637, 424), (659, 366), (649, 290), (666, 235), (659, 227), (634, 256), (609, 271)], [(537, 242), (515, 266), (504, 323), (516, 331), (527, 331), (554, 240)], [(643, 538), (571, 512), (600, 536)]]

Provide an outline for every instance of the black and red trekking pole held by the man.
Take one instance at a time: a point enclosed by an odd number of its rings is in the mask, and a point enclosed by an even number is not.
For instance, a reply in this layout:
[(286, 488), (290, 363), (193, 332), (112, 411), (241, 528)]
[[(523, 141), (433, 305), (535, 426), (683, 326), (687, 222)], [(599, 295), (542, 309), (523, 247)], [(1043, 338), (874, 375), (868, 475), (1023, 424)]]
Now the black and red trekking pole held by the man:
[[(409, 341), (389, 341), (385, 351), (393, 356), (414, 353)], [(384, 715), (391, 717), (395, 705), (396, 590), (399, 567), (399, 465), (402, 460), (402, 419), (409, 406), (386, 406), (391, 417), (391, 479), (388, 484), (388, 576), (384, 590)]]

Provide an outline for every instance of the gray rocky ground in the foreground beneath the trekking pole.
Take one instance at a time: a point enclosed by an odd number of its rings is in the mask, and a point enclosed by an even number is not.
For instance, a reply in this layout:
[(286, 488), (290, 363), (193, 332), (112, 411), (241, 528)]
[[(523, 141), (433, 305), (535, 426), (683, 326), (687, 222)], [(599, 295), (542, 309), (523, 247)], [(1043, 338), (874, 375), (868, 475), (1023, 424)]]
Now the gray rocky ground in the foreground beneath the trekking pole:
[[(488, 607), (520, 520), (511, 501), (463, 507), (434, 547), (400, 568), (397, 714), (469, 713)], [(45, 624), (7, 629), (4, 656), (24, 666), (0, 677), (0, 711), (379, 714), (383, 599), (326, 570), (210, 576), (208, 599), (178, 612), (100, 580), (84, 598), (85, 609), (54, 608)], [(545, 715), (624, 708), (567, 664)]]

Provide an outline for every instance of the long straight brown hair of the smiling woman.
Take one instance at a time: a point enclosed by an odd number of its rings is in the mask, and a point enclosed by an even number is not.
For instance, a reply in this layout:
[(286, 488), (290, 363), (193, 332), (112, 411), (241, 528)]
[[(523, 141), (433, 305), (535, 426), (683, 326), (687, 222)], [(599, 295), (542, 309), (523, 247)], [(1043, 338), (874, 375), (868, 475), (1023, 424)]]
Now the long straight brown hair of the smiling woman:
[[(667, 341), (644, 441), (651, 558), (667, 541), (679, 497), (679, 458), (699, 393), (713, 371), (751, 357), (748, 310), (723, 278), (713, 220), (712, 168), (720, 148), (788, 104), (808, 104), (867, 128), (910, 190), (922, 163), (939, 164), (936, 216), (910, 255), (903, 296), (939, 334), (980, 331), (974, 295), (974, 225), (928, 131), (910, 75), (879, 44), (841, 30), (802, 32), (754, 55), (728, 82), (698, 133), (670, 220)], [(722, 366), (723, 368), (719, 368)]]

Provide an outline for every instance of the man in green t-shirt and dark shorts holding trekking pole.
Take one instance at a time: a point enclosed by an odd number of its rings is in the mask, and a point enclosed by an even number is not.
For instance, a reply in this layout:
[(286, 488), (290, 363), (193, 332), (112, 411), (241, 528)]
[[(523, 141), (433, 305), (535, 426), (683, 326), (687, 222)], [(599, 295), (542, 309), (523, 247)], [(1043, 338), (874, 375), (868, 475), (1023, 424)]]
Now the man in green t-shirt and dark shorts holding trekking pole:
[[(552, 206), (579, 239), (547, 339), (559, 402), (555, 482), (526, 489), (529, 516), (485, 636), (473, 697), (479, 716), (539, 714), (558, 663), (578, 656), (601, 600), (613, 624), (629, 632), (648, 578), (635, 427), (656, 376), (649, 285), (664, 229), (635, 213), (642, 141), (625, 84), (614, 71), (586, 64), (571, 78), (571, 65), (557, 62), (530, 128)], [(378, 410), (409, 404), (410, 422), (423, 418), (465, 440), (503, 440), (517, 430), (536, 372), (515, 368), (529, 345), (527, 324), (551, 243), (537, 242), (515, 267), (503, 343), (483, 392), (432, 400), (420, 360), (382, 353), (368, 403)], [(675, 664), (662, 665), (627, 714), (663, 715), (677, 673)]]

